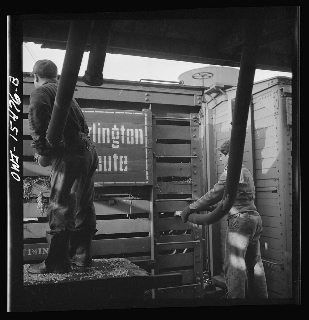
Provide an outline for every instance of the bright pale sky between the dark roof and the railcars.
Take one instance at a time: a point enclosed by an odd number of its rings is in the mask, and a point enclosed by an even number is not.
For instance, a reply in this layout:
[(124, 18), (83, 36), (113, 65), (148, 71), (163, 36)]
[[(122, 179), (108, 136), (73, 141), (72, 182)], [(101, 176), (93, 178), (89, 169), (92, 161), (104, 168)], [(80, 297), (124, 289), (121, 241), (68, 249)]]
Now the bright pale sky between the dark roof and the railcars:
[[(61, 74), (64, 55), (65, 50), (41, 49), (40, 44), (34, 44), (32, 42), (23, 43), (23, 72), (31, 72), (35, 61), (49, 59), (55, 62), (58, 67), (58, 74)], [(84, 52), (79, 76), (85, 74), (88, 57), (89, 52)], [(182, 73), (207, 66), (210, 65), (107, 53), (103, 77), (105, 79), (130, 81), (140, 81), (142, 78), (179, 81), (178, 77)], [(254, 82), (269, 79), (274, 76), (291, 77), (292, 75), (289, 72), (256, 70)]]

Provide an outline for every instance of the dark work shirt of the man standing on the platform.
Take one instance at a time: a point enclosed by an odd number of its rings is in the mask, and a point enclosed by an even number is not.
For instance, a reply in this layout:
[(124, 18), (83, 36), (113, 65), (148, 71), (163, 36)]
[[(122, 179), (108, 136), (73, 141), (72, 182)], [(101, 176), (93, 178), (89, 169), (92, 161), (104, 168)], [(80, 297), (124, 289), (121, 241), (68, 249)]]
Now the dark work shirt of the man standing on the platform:
[[(47, 154), (46, 132), (53, 111), (58, 82), (47, 80), (30, 94), (29, 127), (33, 139), (30, 147), (35, 148), (39, 155)], [(66, 134), (89, 133), (84, 115), (76, 100), (73, 98), (69, 115), (64, 128)]]

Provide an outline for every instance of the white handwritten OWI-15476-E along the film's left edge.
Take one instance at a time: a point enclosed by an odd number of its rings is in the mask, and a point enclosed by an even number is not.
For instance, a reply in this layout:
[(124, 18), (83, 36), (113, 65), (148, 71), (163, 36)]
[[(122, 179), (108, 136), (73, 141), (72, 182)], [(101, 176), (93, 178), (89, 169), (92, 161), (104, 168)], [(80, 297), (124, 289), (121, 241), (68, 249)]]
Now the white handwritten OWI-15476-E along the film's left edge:
[[(18, 87), (18, 79), (14, 78), (12, 76), (9, 76), (9, 80), (10, 82), (12, 82), (12, 84), (14, 84), (16, 87)], [(15, 92), (17, 92), (17, 88), (15, 88)], [(14, 97), (12, 96), (11, 93), (9, 93), (10, 95), (10, 99), (9, 99), (9, 116), (12, 118), (12, 120), (10, 120), (10, 136), (15, 140), (17, 140), (17, 133), (18, 133), (18, 129), (16, 127), (14, 127), (14, 123), (16, 122), (16, 120), (18, 120), (18, 116), (15, 114), (15, 112), (20, 112), (20, 110), (16, 107), (16, 105), (20, 105), (21, 104), (21, 100), (18, 96), (17, 93), (14, 93)], [(18, 164), (18, 156), (15, 155), (15, 147), (13, 147), (13, 151), (10, 150), (10, 161), (12, 161), (12, 166), (10, 167), (10, 169), (13, 169), (10, 173), (12, 175), (12, 177), (17, 180), (20, 181), (21, 178), (18, 174), (18, 172), (20, 172), (19, 170), (19, 164)]]

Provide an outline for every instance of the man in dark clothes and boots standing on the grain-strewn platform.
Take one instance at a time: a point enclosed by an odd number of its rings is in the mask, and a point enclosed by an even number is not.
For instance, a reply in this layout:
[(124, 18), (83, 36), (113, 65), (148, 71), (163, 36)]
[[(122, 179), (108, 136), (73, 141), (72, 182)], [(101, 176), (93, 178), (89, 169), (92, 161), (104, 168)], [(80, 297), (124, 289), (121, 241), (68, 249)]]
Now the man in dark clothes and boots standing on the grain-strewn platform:
[(65, 126), (59, 128), (64, 129), (60, 144), (51, 147), (46, 140), (58, 88), (57, 74), (56, 64), (45, 59), (38, 60), (31, 73), (35, 86), (30, 94), (28, 115), (31, 147), (38, 159), (41, 156), (51, 159), (51, 190), (46, 212), (49, 251), (43, 262), (27, 268), (34, 274), (64, 273), (70, 270), (71, 263), (88, 266), (91, 240), (97, 231), (93, 199), (98, 155), (74, 98)]

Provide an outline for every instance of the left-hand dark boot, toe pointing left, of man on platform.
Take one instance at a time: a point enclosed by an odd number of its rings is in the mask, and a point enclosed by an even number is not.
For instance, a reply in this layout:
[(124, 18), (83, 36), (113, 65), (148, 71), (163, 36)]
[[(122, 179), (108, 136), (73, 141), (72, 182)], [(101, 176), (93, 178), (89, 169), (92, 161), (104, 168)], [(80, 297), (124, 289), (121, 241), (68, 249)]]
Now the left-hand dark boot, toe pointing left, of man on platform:
[(27, 271), (35, 274), (66, 273), (70, 271), (69, 238), (62, 233), (46, 234), (49, 251), (41, 263), (31, 264)]

